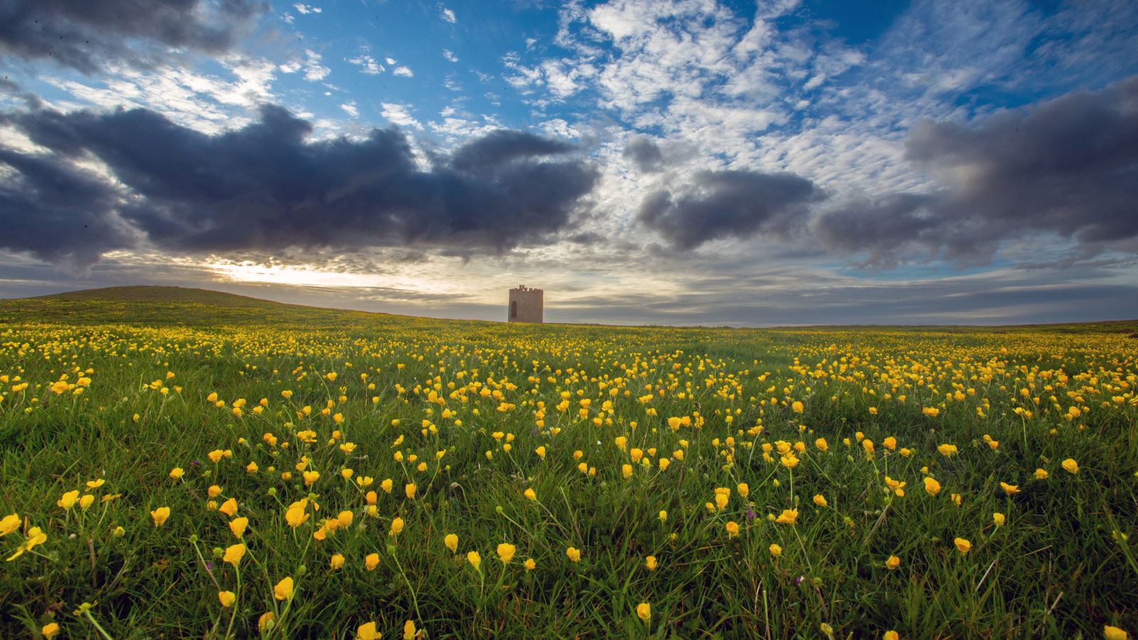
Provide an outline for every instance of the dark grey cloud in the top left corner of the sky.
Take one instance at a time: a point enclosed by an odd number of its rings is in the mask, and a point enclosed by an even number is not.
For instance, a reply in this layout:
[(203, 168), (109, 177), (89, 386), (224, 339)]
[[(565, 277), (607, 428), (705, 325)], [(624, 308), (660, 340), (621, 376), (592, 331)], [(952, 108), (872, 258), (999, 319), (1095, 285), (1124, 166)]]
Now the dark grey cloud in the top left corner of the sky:
[(50, 59), (83, 73), (163, 49), (226, 51), (263, 0), (0, 0), (0, 59)]

